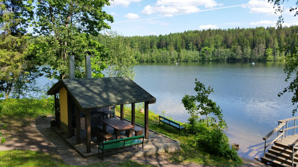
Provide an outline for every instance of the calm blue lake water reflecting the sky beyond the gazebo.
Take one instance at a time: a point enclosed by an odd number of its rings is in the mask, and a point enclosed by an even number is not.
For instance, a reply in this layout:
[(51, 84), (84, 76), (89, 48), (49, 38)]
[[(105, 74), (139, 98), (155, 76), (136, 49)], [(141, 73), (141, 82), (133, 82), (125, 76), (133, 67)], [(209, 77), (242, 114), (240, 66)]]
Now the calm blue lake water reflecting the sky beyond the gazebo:
[[(232, 143), (240, 144), (240, 156), (262, 156), (263, 137), (278, 125), (278, 120), (291, 118), (294, 107), (291, 95), (278, 97), (289, 83), (285, 82), (284, 63), (261, 62), (181, 62), (139, 63), (135, 82), (156, 98), (149, 109), (156, 114), (186, 122), (189, 114), (181, 99), (195, 95), (195, 78), (211, 86), (210, 98), (223, 110), (226, 131)], [(47, 81), (38, 79), (41, 85)], [(276, 136), (274, 136), (276, 137)]]

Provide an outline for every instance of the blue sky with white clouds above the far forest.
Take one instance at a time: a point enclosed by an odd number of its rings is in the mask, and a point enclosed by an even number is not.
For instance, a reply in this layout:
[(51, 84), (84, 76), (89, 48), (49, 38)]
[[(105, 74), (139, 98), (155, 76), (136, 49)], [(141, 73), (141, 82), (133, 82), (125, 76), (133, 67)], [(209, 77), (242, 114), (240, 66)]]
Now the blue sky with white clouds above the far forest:
[[(123, 36), (165, 35), (188, 30), (232, 29), (275, 26), (267, 0), (114, 0), (103, 11), (113, 15), (107, 22)], [(283, 26), (298, 25), (298, 16), (289, 12), (294, 0), (285, 1)]]

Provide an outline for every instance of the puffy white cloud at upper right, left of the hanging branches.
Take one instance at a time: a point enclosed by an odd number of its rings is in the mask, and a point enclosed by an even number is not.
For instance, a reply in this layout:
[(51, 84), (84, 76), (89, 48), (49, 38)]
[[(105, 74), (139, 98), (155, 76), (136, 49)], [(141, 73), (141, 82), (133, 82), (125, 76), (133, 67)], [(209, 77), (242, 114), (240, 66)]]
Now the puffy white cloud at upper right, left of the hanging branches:
[(273, 4), (267, 0), (251, 0), (247, 4), (241, 4), (241, 7), (248, 8), (249, 13), (267, 13), (267, 15), (274, 15)]

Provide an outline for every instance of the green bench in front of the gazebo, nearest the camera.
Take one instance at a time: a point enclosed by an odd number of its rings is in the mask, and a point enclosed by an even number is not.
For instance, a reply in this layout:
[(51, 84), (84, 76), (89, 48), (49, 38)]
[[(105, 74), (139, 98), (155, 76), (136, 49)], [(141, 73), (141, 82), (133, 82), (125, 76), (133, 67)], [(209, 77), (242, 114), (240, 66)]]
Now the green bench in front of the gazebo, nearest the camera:
[[(122, 149), (125, 147), (134, 146), (134, 145), (138, 145), (138, 148), (139, 148), (139, 144), (142, 144), (142, 151), (144, 151), (144, 137), (145, 136), (142, 135), (142, 136), (134, 136), (134, 137), (120, 138), (117, 140), (100, 142), (98, 144), (98, 156), (99, 156), (99, 150), (101, 150), (102, 152), (101, 158), (103, 160), (104, 152)], [(143, 138), (143, 141), (139, 140), (140, 138)]]

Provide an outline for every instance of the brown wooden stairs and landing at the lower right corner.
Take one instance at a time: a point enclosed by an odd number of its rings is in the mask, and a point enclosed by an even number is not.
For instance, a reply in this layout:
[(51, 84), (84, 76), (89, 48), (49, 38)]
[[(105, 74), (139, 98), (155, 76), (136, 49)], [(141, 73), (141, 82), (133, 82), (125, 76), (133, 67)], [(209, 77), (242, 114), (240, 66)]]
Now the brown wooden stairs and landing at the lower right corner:
[[(298, 136), (288, 136), (283, 141), (276, 140), (271, 149), (268, 149), (265, 157), (261, 157), (263, 162), (271, 163), (274, 166), (291, 167), (292, 166), (292, 149), (291, 145), (297, 143)], [(294, 152), (297, 151), (298, 145), (294, 146)], [(298, 154), (294, 156), (294, 167), (298, 167)]]

